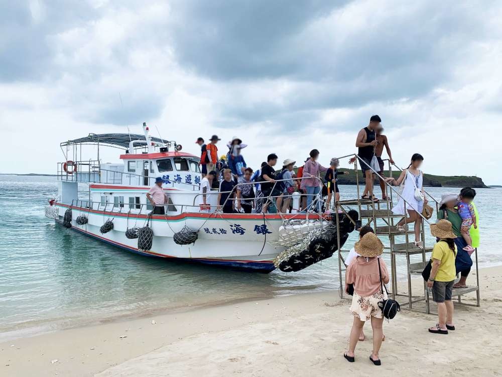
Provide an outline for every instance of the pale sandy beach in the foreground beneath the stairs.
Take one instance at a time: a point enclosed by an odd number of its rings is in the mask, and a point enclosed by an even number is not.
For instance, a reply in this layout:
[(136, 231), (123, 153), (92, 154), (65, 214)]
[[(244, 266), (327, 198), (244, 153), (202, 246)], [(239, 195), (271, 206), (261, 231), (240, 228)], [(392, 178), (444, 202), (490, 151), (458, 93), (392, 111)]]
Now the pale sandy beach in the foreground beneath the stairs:
[[(469, 279), (474, 281), (475, 275)], [(480, 280), (481, 307), (455, 306), (457, 330), (449, 335), (427, 332), (436, 316), (407, 310), (384, 323), (381, 367), (368, 360), (369, 324), (366, 341), (357, 345), (356, 362), (343, 359), (352, 322), (349, 301), (340, 300), (337, 292), (323, 292), (5, 342), (0, 344), (0, 375), (332, 376), (393, 371), (412, 376), (438, 369), (441, 375), (502, 375), (502, 339), (496, 336), (502, 326), (502, 267), (481, 269)], [(421, 281), (414, 284), (419, 287)], [(463, 301), (474, 303), (475, 294)]]

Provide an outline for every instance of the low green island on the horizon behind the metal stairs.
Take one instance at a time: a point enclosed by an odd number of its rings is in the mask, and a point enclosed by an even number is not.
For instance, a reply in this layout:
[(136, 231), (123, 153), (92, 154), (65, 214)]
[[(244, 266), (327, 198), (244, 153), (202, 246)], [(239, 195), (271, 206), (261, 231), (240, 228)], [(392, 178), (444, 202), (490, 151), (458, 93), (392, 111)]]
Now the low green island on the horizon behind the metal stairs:
[[(353, 169), (338, 169), (339, 172), (348, 171), (349, 175), (338, 174), (338, 184), (355, 184), (355, 175)], [(386, 174), (387, 173), (387, 174)], [(384, 173), (389, 175), (389, 171)], [(362, 172), (358, 170), (359, 183), (364, 184), (364, 178), (362, 177)], [(400, 171), (393, 171), (392, 175), (394, 178), (399, 177)], [(466, 175), (453, 175), (453, 176), (443, 176), (443, 175), (431, 175), (424, 174), (424, 186), (427, 187), (474, 187), (488, 189), (489, 187), (484, 184), (480, 177), (466, 176)], [(495, 186), (491, 186), (495, 187)], [(500, 187), (500, 186), (499, 186)]]

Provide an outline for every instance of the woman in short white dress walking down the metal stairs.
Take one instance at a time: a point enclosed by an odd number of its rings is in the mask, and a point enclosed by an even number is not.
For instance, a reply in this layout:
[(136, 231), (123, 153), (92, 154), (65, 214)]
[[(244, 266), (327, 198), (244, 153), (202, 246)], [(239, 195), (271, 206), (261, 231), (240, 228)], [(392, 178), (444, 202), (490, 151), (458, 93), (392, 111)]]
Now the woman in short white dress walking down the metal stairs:
[[(411, 157), (411, 163), (407, 169), (401, 172), (398, 179), (387, 178), (386, 181), (399, 186), (404, 184), (401, 197), (399, 198), (398, 204), (393, 207), (392, 212), (395, 215), (405, 216), (398, 224), (398, 230), (400, 232), (405, 231), (406, 224), (415, 223), (415, 246), (423, 248), (423, 242), (420, 241), (420, 229), (422, 227), (422, 217), (419, 213), (422, 213), (424, 209), (424, 204), (427, 203), (425, 199), (425, 193), (423, 188), (424, 173), (420, 170), (420, 165), (424, 161), (424, 157), (421, 154), (415, 153)], [(423, 200), (417, 199), (416, 191), (422, 192)], [(405, 203), (406, 201), (406, 203)], [(408, 214), (408, 217), (406, 217)]]

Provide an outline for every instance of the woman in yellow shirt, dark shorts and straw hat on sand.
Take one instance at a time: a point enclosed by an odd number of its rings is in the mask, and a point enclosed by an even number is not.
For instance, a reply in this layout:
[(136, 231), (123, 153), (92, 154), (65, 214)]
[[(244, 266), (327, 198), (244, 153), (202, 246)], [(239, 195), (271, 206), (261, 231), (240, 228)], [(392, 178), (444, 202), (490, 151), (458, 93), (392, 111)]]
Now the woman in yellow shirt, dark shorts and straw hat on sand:
[(438, 323), (429, 328), (433, 334), (448, 334), (448, 330), (455, 330), (451, 293), (456, 276), (457, 247), (451, 228), (451, 223), (444, 219), (431, 225), (432, 235), (439, 238), (432, 250), (432, 269), (427, 280), (427, 287), (432, 288), (432, 299), (438, 305)]

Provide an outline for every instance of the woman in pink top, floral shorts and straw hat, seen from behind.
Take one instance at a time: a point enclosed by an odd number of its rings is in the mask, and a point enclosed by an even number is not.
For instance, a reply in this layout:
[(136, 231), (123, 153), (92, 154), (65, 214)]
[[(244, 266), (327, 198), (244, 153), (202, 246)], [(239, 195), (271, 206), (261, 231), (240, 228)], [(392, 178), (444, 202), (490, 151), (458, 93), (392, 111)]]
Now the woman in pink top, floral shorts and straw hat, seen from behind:
[[(384, 316), (378, 303), (387, 299), (387, 292), (382, 288), (389, 282), (389, 271), (383, 258), (378, 258), (384, 251), (384, 244), (373, 233), (366, 233), (355, 243), (355, 251), (360, 255), (347, 267), (345, 272), (345, 292), (348, 285), (354, 285), (350, 312), (354, 316), (348, 351), (343, 356), (349, 362), (355, 361), (355, 346), (361, 335), (365, 321), (371, 320), (373, 328), (373, 351), (369, 359), (375, 365), (381, 365), (379, 351), (382, 346)], [(382, 279), (381, 279), (382, 276)]]

